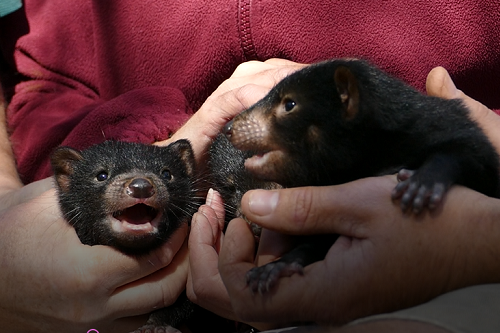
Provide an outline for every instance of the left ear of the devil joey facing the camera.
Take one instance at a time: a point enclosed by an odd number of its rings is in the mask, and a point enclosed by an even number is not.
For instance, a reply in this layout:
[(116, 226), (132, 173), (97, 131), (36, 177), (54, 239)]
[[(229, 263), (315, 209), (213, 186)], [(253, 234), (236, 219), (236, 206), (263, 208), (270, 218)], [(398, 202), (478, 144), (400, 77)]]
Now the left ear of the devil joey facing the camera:
[(81, 160), (83, 156), (80, 151), (70, 147), (58, 147), (50, 156), (54, 178), (63, 192), (69, 190), (69, 179), (74, 172), (74, 164)]

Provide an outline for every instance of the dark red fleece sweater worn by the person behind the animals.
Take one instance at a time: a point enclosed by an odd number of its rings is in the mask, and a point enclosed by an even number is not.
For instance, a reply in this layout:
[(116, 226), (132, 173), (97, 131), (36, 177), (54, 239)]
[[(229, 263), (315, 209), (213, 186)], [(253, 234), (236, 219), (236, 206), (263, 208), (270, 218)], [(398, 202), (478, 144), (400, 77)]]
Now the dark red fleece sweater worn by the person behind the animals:
[(422, 91), (440, 65), (500, 108), (495, 0), (26, 0), (24, 11), (8, 122), (26, 183), (51, 174), (60, 144), (166, 139), (251, 59), (360, 57)]

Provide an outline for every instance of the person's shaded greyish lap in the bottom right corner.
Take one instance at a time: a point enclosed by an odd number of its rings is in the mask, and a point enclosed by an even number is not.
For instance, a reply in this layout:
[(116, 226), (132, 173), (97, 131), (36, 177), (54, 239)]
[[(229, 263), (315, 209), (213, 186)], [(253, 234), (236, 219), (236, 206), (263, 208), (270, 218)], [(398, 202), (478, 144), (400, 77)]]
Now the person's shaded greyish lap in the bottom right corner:
[(297, 327), (280, 333), (496, 333), (500, 332), (500, 284), (479, 285), (443, 294), (427, 303), (358, 319), (344, 327)]

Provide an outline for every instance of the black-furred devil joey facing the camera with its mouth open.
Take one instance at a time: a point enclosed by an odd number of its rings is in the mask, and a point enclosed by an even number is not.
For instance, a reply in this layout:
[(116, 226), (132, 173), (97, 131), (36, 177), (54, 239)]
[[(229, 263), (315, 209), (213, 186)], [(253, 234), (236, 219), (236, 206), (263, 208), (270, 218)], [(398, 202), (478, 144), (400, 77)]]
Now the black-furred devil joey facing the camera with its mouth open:
[[(51, 162), (61, 210), (83, 244), (109, 245), (127, 254), (150, 252), (187, 223), (199, 205), (193, 186), (194, 154), (187, 140), (167, 147), (117, 141), (83, 151), (59, 147)], [(141, 181), (134, 183), (137, 179)], [(127, 208), (137, 200), (143, 202), (140, 207)], [(109, 223), (113, 215), (134, 220), (156, 213), (163, 215), (153, 233), (117, 233)], [(174, 305), (153, 312), (148, 327), (177, 326), (193, 310), (181, 295)]]

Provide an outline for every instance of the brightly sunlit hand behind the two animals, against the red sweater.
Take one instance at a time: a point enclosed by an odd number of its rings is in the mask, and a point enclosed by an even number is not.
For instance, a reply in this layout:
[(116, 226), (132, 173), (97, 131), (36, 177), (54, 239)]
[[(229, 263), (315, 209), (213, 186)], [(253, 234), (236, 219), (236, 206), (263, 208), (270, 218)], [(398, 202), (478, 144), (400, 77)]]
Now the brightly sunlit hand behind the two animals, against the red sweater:
[(179, 139), (188, 139), (200, 162), (212, 140), (229, 120), (264, 97), (285, 76), (303, 66), (284, 59), (242, 63), (186, 124), (170, 139), (157, 144), (167, 145)]

